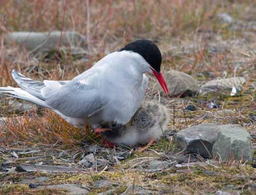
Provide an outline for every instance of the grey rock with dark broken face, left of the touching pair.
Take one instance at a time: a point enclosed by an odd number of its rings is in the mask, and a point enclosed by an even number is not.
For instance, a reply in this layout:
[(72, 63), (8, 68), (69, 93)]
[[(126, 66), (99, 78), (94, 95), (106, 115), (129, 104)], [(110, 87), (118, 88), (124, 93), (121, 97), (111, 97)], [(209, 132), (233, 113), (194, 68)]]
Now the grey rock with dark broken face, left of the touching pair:
[(220, 125), (212, 123), (196, 125), (177, 132), (174, 135), (174, 141), (177, 146), (182, 149), (186, 148), (188, 152), (199, 153), (207, 157), (212, 155), (212, 146), (220, 130)]

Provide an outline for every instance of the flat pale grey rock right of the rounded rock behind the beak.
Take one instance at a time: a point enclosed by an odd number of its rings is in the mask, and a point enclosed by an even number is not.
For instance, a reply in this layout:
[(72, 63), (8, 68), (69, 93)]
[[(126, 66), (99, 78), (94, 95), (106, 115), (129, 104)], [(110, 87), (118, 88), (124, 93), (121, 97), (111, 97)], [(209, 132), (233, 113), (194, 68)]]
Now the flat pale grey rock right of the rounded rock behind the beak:
[(231, 77), (228, 79), (216, 79), (212, 81), (206, 82), (201, 86), (201, 90), (216, 90), (216, 89), (232, 89), (233, 86), (239, 87), (245, 83), (245, 79), (243, 77)]

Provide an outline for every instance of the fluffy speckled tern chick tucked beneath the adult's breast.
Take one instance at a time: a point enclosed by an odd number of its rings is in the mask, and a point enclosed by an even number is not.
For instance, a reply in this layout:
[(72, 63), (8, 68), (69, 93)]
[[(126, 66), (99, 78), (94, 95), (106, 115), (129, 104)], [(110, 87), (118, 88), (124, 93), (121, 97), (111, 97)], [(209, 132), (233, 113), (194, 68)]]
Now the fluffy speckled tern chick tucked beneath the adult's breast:
[(153, 100), (144, 101), (131, 121), (125, 125), (102, 122), (95, 130), (113, 144), (135, 146), (151, 145), (167, 130), (169, 114), (166, 106)]

